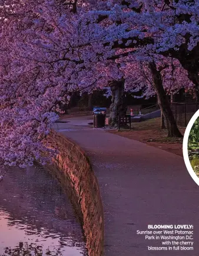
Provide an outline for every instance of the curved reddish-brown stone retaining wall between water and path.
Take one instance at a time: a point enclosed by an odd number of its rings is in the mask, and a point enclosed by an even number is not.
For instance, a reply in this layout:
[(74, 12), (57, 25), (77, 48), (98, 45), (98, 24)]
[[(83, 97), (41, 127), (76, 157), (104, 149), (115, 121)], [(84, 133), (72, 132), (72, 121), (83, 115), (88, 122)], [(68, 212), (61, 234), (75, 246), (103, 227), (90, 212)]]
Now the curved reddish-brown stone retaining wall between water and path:
[(78, 199), (82, 212), (83, 229), (89, 256), (104, 254), (104, 216), (97, 178), (89, 158), (74, 142), (63, 135), (52, 132), (48, 136), (52, 147), (59, 154), (54, 159), (53, 169), (66, 177)]

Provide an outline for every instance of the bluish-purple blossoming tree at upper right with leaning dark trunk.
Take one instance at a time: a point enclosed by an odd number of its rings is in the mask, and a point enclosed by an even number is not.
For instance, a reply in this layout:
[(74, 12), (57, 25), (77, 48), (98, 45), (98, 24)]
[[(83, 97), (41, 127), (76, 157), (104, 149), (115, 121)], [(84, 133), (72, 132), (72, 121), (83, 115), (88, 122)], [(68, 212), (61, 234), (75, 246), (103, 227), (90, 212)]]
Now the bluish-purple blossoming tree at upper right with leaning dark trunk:
[[(110, 4), (111, 7), (111, 4)], [(148, 53), (158, 53), (178, 59), (195, 85), (198, 97), (198, 1), (117, 1), (110, 9), (92, 11), (97, 22), (107, 17), (110, 27), (106, 28), (106, 45), (112, 48), (128, 49), (125, 54), (133, 54), (142, 49)], [(123, 55), (123, 56), (124, 56)], [(154, 79), (160, 82), (155, 63), (151, 63)], [(158, 79), (156, 79), (158, 77)], [(170, 109), (163, 96), (161, 83), (157, 95), (161, 96), (162, 113), (170, 122), (171, 136), (180, 135)]]

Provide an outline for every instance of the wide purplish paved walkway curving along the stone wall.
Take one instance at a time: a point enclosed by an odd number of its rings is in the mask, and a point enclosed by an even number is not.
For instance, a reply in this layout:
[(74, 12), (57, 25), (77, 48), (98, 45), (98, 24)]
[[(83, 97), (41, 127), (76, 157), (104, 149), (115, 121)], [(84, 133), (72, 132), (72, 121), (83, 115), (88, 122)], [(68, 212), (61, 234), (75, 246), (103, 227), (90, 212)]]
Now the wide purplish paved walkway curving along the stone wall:
[[(199, 255), (199, 187), (182, 157), (87, 127), (88, 117), (55, 127), (87, 152), (105, 212), (105, 256)], [(148, 224), (194, 225), (194, 251), (148, 251), (161, 242), (137, 235)]]

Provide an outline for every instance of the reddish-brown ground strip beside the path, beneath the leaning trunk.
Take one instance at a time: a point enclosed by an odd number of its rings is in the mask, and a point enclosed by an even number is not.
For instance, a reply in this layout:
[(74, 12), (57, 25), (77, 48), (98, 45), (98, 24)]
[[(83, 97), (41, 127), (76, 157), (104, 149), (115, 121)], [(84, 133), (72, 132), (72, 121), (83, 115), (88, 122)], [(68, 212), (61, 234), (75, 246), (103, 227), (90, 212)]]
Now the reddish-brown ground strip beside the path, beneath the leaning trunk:
[[(132, 123), (131, 131), (107, 131), (183, 156), (183, 138), (168, 138), (167, 129), (160, 129), (160, 118)], [(185, 128), (180, 127), (180, 131), (184, 134)]]

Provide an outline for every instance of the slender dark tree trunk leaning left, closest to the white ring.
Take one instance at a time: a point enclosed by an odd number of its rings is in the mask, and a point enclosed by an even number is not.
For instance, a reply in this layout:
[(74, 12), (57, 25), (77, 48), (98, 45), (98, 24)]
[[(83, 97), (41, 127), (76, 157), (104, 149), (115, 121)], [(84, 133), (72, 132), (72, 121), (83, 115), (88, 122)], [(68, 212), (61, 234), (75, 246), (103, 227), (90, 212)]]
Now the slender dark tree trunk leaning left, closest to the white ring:
[(157, 94), (158, 104), (160, 106), (162, 115), (164, 116), (165, 123), (168, 129), (168, 137), (182, 137), (175, 122), (175, 118), (171, 110), (170, 103), (168, 101), (167, 95), (162, 85), (161, 73), (157, 70), (154, 61), (152, 61), (149, 64), (149, 66), (151, 69), (152, 79), (154, 80), (154, 89)]

